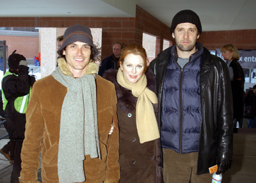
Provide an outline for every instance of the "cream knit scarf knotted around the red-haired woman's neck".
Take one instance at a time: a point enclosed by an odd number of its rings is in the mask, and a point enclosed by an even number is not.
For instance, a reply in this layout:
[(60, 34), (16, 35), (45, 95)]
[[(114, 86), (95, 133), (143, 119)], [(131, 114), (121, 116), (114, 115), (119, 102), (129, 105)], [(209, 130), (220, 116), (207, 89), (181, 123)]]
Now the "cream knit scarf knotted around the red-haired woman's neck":
[(138, 98), (136, 104), (136, 126), (140, 143), (159, 138), (156, 115), (152, 106), (152, 103), (157, 104), (157, 96), (147, 88), (145, 74), (136, 83), (130, 83), (124, 78), (124, 74), (119, 68), (116, 80), (121, 86), (131, 90), (132, 95)]

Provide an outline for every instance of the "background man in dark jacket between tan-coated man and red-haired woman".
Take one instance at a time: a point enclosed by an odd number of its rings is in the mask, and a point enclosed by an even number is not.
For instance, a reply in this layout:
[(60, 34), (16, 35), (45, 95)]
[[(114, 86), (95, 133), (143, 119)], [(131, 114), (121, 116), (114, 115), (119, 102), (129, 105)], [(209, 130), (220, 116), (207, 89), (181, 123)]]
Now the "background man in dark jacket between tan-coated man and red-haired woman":
[(120, 52), (123, 48), (123, 44), (121, 42), (114, 42), (113, 45), (113, 53), (111, 56), (108, 56), (102, 60), (102, 63), (99, 68), (99, 76), (103, 76), (104, 72), (109, 68), (118, 69), (120, 67), (118, 60), (120, 58)]

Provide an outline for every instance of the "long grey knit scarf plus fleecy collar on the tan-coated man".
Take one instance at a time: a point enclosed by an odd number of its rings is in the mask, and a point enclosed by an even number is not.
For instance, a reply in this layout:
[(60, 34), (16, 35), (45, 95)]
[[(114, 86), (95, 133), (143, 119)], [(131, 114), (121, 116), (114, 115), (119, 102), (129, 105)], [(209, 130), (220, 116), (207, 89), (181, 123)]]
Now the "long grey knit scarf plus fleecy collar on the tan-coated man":
[(58, 65), (52, 76), (68, 89), (61, 108), (59, 182), (84, 182), (84, 155), (100, 158), (94, 75), (98, 67), (90, 62), (84, 76), (74, 78), (63, 58)]

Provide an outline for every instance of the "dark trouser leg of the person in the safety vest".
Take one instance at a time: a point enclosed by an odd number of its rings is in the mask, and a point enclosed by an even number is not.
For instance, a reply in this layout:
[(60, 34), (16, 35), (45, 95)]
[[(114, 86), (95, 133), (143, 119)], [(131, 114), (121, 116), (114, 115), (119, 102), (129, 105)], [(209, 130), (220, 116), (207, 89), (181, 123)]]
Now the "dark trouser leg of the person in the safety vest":
[(21, 153), (22, 143), (23, 143), (23, 141), (16, 141), (16, 144), (15, 144), (11, 183), (19, 183), (19, 177), (20, 177), (20, 171), (21, 171), (20, 153)]

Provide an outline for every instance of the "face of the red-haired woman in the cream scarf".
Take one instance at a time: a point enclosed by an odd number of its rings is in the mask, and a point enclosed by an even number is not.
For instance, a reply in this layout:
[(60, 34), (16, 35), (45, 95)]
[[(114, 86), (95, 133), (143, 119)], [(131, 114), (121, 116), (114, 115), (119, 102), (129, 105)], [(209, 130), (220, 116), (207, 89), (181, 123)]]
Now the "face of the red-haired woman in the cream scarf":
[(144, 74), (144, 60), (140, 55), (127, 54), (124, 63), (120, 65), (125, 79), (130, 83), (136, 83)]

